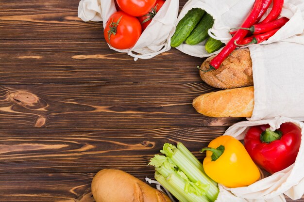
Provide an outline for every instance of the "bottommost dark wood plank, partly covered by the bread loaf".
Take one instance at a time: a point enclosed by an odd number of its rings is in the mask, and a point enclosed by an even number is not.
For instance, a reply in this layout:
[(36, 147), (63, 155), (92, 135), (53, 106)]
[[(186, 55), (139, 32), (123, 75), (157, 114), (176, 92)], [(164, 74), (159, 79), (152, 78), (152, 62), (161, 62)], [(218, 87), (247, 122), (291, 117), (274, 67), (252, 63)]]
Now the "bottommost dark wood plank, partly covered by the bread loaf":
[[(0, 202), (94, 202), (91, 193), (94, 174), (0, 174)], [(140, 171), (131, 174), (142, 181), (146, 177)], [(296, 201), (286, 197), (286, 200), (304, 202), (304, 197)]]

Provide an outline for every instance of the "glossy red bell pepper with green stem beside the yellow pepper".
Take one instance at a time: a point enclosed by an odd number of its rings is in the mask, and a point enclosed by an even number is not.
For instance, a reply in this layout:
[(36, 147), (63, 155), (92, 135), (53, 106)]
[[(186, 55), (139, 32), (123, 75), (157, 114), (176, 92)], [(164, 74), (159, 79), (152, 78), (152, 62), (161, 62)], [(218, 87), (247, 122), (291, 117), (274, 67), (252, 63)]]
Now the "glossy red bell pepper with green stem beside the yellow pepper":
[(301, 129), (293, 123), (281, 124), (271, 131), (270, 126), (251, 127), (244, 138), (245, 148), (253, 161), (273, 174), (293, 164), (301, 144)]

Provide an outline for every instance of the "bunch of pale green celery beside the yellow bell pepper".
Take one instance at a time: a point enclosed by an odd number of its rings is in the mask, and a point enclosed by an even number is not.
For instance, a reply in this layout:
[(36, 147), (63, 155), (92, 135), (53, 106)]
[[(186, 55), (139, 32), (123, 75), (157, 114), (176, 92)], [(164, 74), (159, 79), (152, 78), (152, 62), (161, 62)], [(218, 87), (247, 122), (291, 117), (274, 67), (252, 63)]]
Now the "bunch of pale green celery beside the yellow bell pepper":
[[(185, 149), (186, 147), (184, 145), (179, 144), (178, 146), (184, 153), (176, 146), (165, 143), (160, 152), (166, 156), (154, 155), (149, 165), (153, 165), (155, 170), (166, 178), (168, 183), (168, 179), (171, 179), (172, 176), (173, 179), (175, 179), (177, 176), (179, 181), (171, 180), (169, 184), (174, 186), (176, 190), (181, 191), (182, 193), (180, 194), (183, 194), (184, 197), (191, 194), (191, 196), (203, 197), (205, 200), (200, 198), (201, 202), (206, 201), (206, 199), (207, 202), (214, 202), (218, 197), (219, 188), (198, 168), (198, 160), (194, 159), (195, 156)], [(180, 181), (183, 183), (178, 184), (181, 183)], [(188, 200), (188, 198), (186, 199)], [(197, 199), (198, 198), (188, 201), (196, 202)]]

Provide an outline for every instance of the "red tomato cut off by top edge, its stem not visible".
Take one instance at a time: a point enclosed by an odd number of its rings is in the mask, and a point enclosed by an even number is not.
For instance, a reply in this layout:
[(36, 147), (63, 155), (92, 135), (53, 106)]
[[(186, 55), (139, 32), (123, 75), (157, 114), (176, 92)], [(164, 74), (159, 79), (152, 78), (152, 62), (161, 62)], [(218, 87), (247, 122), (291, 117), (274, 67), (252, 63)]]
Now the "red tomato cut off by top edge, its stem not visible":
[(118, 6), (131, 16), (143, 16), (149, 12), (156, 0), (117, 0)]

